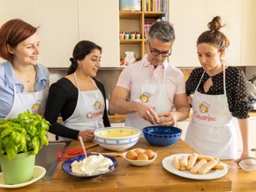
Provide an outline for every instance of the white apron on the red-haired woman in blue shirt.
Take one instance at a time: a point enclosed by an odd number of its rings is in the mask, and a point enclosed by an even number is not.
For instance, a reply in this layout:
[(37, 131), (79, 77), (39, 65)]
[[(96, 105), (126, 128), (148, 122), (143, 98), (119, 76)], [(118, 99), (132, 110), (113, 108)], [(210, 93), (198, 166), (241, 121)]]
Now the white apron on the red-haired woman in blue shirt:
[(13, 85), (14, 100), (11, 111), (6, 115), (5, 119), (16, 118), (18, 114), (29, 109), (33, 114), (44, 115), (46, 100), (48, 97), (48, 87), (40, 92), (17, 92)]

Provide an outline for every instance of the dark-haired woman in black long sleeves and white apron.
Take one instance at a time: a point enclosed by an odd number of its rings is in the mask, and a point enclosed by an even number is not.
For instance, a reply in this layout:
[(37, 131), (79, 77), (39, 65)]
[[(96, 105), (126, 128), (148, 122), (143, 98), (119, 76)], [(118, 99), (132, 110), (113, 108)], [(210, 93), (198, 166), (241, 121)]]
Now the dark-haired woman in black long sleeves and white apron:
[[(57, 137), (91, 142), (94, 129), (109, 127), (103, 85), (94, 77), (100, 68), (102, 48), (92, 41), (79, 41), (73, 49), (67, 76), (50, 86), (45, 118), (49, 132)], [(63, 123), (58, 123), (61, 114)]]

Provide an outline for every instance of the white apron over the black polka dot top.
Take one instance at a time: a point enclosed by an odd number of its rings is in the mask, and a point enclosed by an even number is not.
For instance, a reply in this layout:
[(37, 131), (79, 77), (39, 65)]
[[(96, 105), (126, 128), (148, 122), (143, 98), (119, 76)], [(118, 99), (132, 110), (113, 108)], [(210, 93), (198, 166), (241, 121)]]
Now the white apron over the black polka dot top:
[[(200, 81), (203, 76), (204, 73)], [(229, 110), (224, 66), (224, 94), (200, 93), (197, 91), (199, 85), (193, 95), (193, 118), (186, 131), (184, 141), (199, 154), (210, 155), (218, 159), (237, 159), (237, 135)]]

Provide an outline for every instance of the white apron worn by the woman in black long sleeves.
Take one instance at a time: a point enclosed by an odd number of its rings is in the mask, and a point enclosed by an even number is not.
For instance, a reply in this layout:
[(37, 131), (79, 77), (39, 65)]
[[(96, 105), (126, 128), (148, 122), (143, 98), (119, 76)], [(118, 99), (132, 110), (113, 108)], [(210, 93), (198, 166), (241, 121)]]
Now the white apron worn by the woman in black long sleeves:
[[(76, 73), (74, 73), (74, 77), (79, 90)], [(93, 80), (92, 82), (94, 84)], [(79, 91), (77, 106), (73, 114), (64, 121), (64, 126), (79, 131), (86, 129), (95, 130), (104, 127), (102, 116), (104, 114), (105, 102), (102, 92), (98, 89), (97, 85), (95, 87), (97, 89), (93, 91)]]

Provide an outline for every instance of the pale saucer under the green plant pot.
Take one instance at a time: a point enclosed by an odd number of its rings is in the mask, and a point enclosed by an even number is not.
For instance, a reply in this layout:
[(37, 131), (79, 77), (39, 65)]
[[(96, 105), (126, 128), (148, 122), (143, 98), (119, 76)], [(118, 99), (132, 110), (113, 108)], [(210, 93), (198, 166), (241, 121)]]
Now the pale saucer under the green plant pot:
[(34, 175), (32, 180), (19, 183), (19, 184), (8, 185), (8, 184), (4, 184), (4, 175), (3, 173), (0, 173), (0, 188), (22, 188), (27, 185), (30, 185), (31, 183), (34, 183), (35, 181), (40, 180), (44, 176), (44, 174), (46, 174), (46, 170), (44, 167), (34, 166)]

